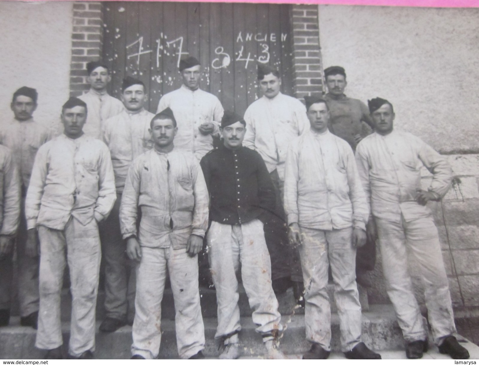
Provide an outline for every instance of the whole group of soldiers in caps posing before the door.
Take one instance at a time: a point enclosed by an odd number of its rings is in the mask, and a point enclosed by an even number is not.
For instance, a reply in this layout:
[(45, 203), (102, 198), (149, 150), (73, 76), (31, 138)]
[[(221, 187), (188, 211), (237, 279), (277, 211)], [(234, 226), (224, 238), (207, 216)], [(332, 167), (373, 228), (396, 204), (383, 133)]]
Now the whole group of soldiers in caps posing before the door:
[[(180, 62), (182, 86), (163, 95), (152, 114), (141, 80), (126, 77), (120, 101), (106, 91), (106, 64), (90, 62), (87, 71), (91, 88), (63, 105), (61, 135), (34, 121), (37, 92), (28, 87), (15, 91), (14, 118), (1, 127), (0, 325), (10, 319), (16, 247), (21, 324), (38, 327), (35, 346), (46, 358), (64, 358), (60, 297), (68, 263), (68, 357), (93, 358), (103, 257), (100, 331), (132, 325), (132, 359), (159, 354), (168, 277), (179, 356), (204, 357), (199, 281), (212, 280), (220, 358), (234, 359), (241, 267), (268, 358), (285, 358), (276, 295), (291, 286), (311, 342), (303, 358), (328, 358), (331, 276), (342, 352), (380, 359), (361, 342), (356, 284), (370, 285), (377, 239), (407, 357), (420, 358), (429, 347), (408, 255), (423, 279), (435, 345), (453, 358), (469, 357), (454, 336), (426, 205), (445, 195), (452, 172), (421, 139), (393, 128), (390, 102), (375, 98), (366, 107), (348, 98), (346, 73), (334, 66), (324, 70), (329, 92), (305, 97), (305, 107), (281, 93), (276, 69), (259, 64), (262, 97), (243, 117), (199, 88), (201, 65), (188, 57)], [(421, 166), (433, 174), (427, 190)]]

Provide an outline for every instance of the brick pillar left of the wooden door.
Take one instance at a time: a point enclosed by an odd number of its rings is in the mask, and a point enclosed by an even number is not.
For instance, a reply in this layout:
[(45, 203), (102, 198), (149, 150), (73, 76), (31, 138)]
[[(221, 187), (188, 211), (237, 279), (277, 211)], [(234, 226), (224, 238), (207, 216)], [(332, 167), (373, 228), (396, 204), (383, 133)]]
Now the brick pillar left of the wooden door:
[(70, 96), (88, 91), (86, 64), (100, 59), (103, 41), (101, 2), (78, 1), (73, 4), (71, 34)]

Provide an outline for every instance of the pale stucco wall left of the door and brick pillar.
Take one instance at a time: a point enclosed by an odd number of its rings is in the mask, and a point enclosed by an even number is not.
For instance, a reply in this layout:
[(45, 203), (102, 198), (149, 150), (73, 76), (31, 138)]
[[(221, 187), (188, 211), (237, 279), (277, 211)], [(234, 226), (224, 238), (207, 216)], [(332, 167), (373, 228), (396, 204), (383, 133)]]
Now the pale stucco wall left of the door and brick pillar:
[(72, 2), (0, 1), (0, 115), (11, 118), (11, 96), (38, 91), (34, 118), (57, 123), (69, 96)]

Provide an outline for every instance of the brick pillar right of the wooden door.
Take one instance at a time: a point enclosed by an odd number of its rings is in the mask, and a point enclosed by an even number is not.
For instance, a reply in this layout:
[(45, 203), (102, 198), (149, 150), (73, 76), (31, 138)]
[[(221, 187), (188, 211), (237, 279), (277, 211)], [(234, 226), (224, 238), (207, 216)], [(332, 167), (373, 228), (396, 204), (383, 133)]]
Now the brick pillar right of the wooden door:
[(297, 98), (323, 92), (318, 5), (293, 5), (293, 72)]

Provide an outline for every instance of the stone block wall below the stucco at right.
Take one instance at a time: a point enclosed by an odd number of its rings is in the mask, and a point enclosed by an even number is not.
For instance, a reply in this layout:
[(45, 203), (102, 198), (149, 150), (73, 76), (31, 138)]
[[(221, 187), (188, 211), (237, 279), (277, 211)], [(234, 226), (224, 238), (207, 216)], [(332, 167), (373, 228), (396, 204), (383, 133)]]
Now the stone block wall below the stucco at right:
[[(454, 174), (451, 189), (442, 202), (429, 203), (439, 231), (449, 289), (456, 308), (479, 306), (479, 154), (448, 155)], [(432, 175), (424, 169), (422, 187)], [(424, 303), (422, 283), (411, 264), (416, 297)], [(388, 303), (381, 269), (381, 255), (368, 291), (371, 304)]]

